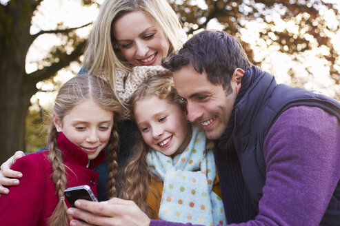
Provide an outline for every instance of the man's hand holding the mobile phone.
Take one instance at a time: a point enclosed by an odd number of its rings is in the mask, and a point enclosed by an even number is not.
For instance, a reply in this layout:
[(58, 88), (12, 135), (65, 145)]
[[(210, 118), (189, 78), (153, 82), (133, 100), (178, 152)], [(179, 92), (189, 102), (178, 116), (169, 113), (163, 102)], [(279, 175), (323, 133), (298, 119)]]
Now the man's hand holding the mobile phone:
[[(79, 200), (75, 205), (77, 208), (68, 209), (68, 214), (74, 218), (85, 220), (90, 225), (150, 225), (150, 218), (133, 201), (121, 198), (111, 198), (109, 201), (101, 203)], [(79, 220), (70, 222), (71, 226), (88, 224)]]

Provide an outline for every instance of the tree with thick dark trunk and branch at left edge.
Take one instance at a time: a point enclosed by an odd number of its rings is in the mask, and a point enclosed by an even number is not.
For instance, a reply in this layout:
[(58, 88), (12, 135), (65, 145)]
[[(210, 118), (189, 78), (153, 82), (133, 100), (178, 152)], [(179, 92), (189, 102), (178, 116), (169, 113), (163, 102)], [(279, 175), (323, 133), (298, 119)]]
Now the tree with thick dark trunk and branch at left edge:
[[(54, 76), (70, 62), (79, 61), (83, 53), (85, 40), (74, 33), (78, 28), (63, 28), (60, 24), (56, 30), (30, 34), (31, 19), (42, 1), (10, 0), (0, 4), (1, 163), (12, 156), (14, 150), (25, 150), (26, 115), (30, 98), (38, 91), (37, 82)], [(44, 66), (28, 74), (25, 69), (26, 54), (33, 41), (42, 34), (58, 34), (64, 36), (66, 42), (51, 50), (44, 59)], [(70, 47), (72, 51), (67, 52)]]

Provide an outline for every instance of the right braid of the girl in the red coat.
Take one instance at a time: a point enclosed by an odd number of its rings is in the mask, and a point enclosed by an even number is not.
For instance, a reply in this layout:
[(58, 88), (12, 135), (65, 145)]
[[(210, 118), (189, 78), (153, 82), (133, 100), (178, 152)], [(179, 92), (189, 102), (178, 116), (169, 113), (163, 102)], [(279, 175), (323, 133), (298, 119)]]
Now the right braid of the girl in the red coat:
[(108, 145), (108, 196), (113, 198), (117, 196), (116, 181), (118, 176), (118, 152), (119, 152), (119, 135), (117, 133), (117, 122), (114, 121)]

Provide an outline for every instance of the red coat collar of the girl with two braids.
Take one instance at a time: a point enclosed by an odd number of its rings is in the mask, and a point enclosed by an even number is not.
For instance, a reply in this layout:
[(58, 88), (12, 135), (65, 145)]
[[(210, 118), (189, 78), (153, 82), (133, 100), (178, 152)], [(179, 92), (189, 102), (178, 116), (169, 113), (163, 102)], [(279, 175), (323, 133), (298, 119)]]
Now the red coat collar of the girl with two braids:
[[(57, 143), (58, 147), (63, 153), (63, 161), (70, 161), (75, 165), (81, 165), (83, 167), (86, 167), (88, 165), (88, 154), (81, 150), (80, 147), (72, 143), (66, 136), (59, 132), (57, 136)], [(94, 167), (97, 167), (100, 163), (104, 161), (106, 157), (106, 154), (104, 150), (101, 150), (97, 158), (94, 158), (90, 161), (90, 164), (88, 165), (89, 169), (93, 169)]]

